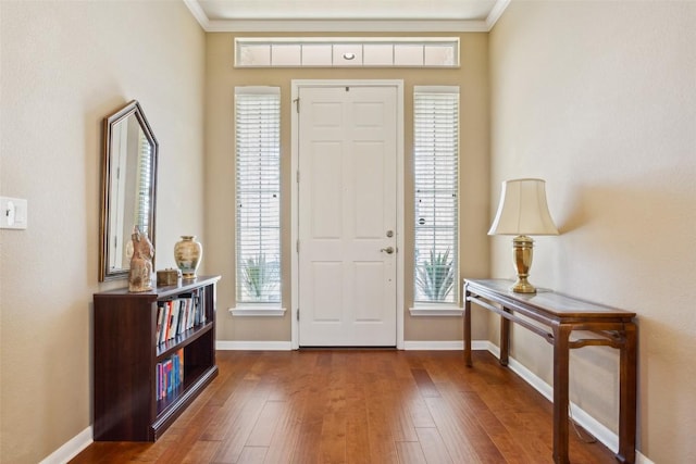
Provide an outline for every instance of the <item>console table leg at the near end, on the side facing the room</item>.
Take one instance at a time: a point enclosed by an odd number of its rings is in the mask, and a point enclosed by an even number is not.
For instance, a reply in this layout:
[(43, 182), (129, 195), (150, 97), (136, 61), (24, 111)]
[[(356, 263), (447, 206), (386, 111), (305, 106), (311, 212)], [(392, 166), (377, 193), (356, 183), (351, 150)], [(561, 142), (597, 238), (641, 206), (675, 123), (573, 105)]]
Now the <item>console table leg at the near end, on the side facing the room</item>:
[(570, 463), (568, 456), (568, 393), (570, 333), (569, 325), (554, 328), (554, 462)]

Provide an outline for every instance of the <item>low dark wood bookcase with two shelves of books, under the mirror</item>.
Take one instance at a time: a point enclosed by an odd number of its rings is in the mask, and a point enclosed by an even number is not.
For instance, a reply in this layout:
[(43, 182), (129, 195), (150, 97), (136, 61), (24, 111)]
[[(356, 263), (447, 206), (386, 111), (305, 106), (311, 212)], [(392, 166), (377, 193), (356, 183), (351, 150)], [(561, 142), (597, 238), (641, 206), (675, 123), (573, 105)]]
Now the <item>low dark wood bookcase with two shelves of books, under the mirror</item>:
[(219, 280), (95, 293), (95, 441), (156, 441), (215, 378)]

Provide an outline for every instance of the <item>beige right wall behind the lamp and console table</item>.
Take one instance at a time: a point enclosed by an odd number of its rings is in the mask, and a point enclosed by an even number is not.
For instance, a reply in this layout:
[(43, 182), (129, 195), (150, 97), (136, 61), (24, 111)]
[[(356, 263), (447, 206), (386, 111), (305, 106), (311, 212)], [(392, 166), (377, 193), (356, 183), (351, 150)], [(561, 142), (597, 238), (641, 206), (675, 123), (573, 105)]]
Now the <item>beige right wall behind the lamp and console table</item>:
[[(696, 3), (513, 1), (490, 34), (492, 204), (499, 183), (547, 180), (559, 237), (531, 280), (634, 311), (638, 449), (696, 459)], [(492, 212), (493, 213), (493, 212)], [(496, 238), (493, 274), (512, 274)], [(550, 383), (551, 350), (517, 330), (513, 356)], [(617, 430), (617, 356), (571, 361), (571, 399)]]

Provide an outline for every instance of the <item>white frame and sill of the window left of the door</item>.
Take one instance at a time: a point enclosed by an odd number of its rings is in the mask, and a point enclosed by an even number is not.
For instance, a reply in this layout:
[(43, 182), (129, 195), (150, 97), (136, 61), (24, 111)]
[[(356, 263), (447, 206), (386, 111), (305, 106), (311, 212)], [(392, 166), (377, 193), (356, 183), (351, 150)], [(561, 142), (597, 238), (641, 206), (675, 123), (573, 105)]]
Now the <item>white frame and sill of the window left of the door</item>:
[[(271, 116), (272, 118), (275, 120), (269, 120), (269, 122), (271, 124), (277, 124), (277, 134), (275, 134), (275, 137), (277, 137), (277, 139), (273, 142), (275, 146), (277, 146), (277, 159), (269, 159), (268, 162), (271, 163), (271, 166), (273, 166), (274, 164), (277, 165), (277, 184), (274, 186), (275, 189), (272, 189), (273, 191), (269, 191), (269, 195), (273, 195), (275, 198), (277, 198), (278, 201), (278, 205), (277, 205), (277, 228), (278, 228), (278, 235), (277, 235), (277, 243), (275, 243), (272, 248), (277, 250), (277, 266), (276, 266), (276, 271), (277, 272), (277, 278), (278, 278), (278, 283), (277, 283), (277, 292), (278, 292), (278, 298), (277, 301), (264, 301), (264, 302), (254, 302), (254, 301), (245, 301), (240, 298), (241, 296), (241, 253), (240, 253), (240, 221), (239, 221), (239, 214), (240, 214), (240, 200), (238, 198), (239, 193), (239, 155), (240, 155), (240, 149), (238, 147), (238, 140), (239, 140), (239, 134), (238, 134), (238, 103), (239, 103), (239, 97), (241, 96), (249, 96), (249, 95), (257, 95), (257, 96), (275, 96), (277, 98), (277, 114)], [(236, 188), (235, 188), (235, 254), (236, 254), (236, 260), (235, 260), (235, 280), (236, 280), (236, 285), (235, 285), (235, 300), (237, 301), (236, 303), (236, 308), (232, 308), (229, 309), (229, 313), (234, 316), (282, 316), (285, 314), (285, 309), (281, 308), (282, 306), (282, 300), (283, 300), (283, 294), (282, 294), (282, 287), (281, 287), (281, 280), (282, 280), (282, 276), (281, 276), (281, 181), (279, 181), (279, 176), (281, 176), (281, 151), (279, 151), (279, 146), (281, 146), (281, 135), (279, 135), (279, 126), (281, 126), (281, 90), (279, 87), (259, 87), (259, 86), (247, 86), (247, 87), (235, 87), (235, 178), (237, 179), (236, 181)], [(275, 168), (275, 166), (273, 166), (273, 168)], [(260, 200), (259, 200), (260, 201)], [(275, 291), (273, 291), (275, 293)]]

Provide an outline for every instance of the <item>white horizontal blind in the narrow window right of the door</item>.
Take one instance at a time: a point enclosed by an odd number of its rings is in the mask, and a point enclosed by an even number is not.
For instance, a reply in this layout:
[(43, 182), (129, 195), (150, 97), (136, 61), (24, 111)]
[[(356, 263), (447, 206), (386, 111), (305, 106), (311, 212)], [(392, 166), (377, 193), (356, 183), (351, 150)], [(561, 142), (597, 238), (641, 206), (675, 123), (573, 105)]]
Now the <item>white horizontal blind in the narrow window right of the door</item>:
[(459, 88), (413, 95), (414, 300), (455, 303), (458, 293)]

